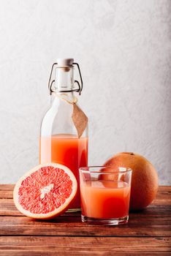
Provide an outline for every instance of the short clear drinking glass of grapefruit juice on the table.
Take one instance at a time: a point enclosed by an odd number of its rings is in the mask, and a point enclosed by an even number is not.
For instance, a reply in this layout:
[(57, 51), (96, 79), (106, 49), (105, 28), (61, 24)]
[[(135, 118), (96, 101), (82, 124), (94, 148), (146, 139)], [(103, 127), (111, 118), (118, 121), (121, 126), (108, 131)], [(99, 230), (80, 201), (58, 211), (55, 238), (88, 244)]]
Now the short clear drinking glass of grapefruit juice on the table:
[(132, 170), (126, 167), (80, 167), (83, 222), (119, 225), (128, 222)]

